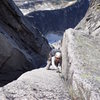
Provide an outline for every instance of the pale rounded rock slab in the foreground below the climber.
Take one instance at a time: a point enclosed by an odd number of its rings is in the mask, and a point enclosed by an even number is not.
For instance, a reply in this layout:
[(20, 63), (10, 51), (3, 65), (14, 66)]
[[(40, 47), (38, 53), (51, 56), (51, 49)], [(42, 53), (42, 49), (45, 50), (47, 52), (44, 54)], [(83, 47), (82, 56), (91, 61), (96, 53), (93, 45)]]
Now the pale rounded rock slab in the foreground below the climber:
[(1, 100), (70, 100), (59, 74), (36, 69), (0, 88)]

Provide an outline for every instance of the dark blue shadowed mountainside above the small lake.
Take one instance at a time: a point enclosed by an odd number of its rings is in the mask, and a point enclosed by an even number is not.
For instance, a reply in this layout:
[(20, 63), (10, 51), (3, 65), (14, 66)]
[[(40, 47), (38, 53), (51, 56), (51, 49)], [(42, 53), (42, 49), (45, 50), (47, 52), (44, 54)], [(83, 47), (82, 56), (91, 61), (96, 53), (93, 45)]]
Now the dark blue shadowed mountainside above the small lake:
[(88, 0), (80, 0), (63, 9), (32, 12), (26, 15), (26, 18), (43, 34), (63, 33), (67, 28), (74, 28), (80, 22), (88, 6)]

